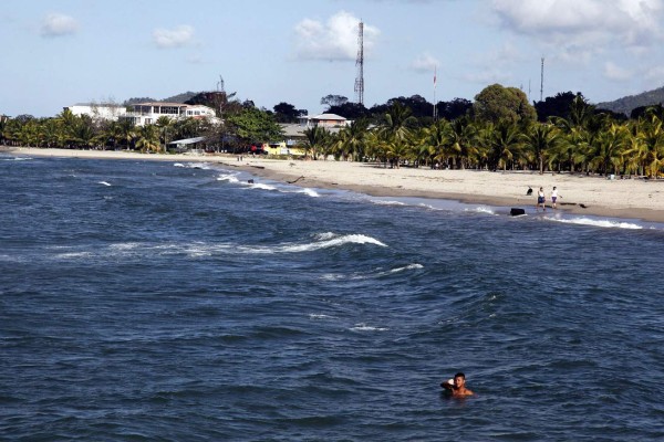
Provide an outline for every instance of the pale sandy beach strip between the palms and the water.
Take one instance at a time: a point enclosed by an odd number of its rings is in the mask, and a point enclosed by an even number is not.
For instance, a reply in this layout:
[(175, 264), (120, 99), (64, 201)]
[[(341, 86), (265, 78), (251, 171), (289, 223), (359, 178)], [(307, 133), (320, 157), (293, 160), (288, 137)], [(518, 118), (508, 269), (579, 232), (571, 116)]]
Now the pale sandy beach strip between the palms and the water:
[[(429, 168), (390, 169), (383, 165), (278, 160), (231, 155), (155, 155), (129, 151), (2, 148), (19, 156), (137, 159), (166, 161), (208, 161), (248, 171), (257, 177), (292, 182), (294, 186), (347, 189), (372, 196), (454, 199), (535, 210), (536, 194), (543, 187), (547, 204), (553, 186), (558, 187), (558, 210), (612, 218), (664, 222), (664, 180), (640, 178), (610, 180), (584, 173), (539, 175), (535, 171), (433, 170)], [(527, 196), (528, 188), (533, 196)], [(552, 210), (550, 207), (549, 211)]]

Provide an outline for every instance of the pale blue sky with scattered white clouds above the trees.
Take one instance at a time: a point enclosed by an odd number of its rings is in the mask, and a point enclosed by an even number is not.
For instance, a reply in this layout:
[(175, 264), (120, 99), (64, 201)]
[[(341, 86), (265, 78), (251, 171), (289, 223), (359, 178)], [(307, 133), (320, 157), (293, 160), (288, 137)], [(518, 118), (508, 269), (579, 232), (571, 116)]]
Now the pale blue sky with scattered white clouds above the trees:
[(310, 114), (354, 101), (364, 22), (364, 104), (485, 86), (592, 103), (664, 85), (664, 0), (3, 0), (0, 114), (54, 116), (82, 102), (227, 92)]

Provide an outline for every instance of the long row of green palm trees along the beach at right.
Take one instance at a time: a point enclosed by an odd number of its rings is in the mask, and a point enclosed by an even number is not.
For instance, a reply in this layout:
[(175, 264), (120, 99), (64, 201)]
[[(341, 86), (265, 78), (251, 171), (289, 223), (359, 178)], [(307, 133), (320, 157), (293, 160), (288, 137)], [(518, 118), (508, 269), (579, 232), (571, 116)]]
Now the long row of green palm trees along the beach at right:
[(332, 134), (305, 130), (313, 158), (457, 169), (529, 169), (658, 177), (664, 169), (664, 116), (652, 108), (616, 122), (577, 97), (567, 118), (547, 123), (483, 122), (464, 116), (418, 125), (398, 104), (377, 122), (355, 120)]

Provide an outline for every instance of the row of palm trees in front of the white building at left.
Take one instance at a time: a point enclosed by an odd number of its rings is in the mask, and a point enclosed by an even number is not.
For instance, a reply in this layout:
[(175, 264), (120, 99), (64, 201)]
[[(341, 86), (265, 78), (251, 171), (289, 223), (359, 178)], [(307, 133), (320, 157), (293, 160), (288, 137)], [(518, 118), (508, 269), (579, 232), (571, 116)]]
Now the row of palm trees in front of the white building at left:
[(206, 130), (209, 130), (208, 123), (193, 118), (173, 120), (160, 116), (154, 124), (138, 127), (129, 119), (94, 120), (64, 109), (54, 118), (19, 116), (0, 120), (0, 144), (159, 152), (169, 140), (194, 137)]

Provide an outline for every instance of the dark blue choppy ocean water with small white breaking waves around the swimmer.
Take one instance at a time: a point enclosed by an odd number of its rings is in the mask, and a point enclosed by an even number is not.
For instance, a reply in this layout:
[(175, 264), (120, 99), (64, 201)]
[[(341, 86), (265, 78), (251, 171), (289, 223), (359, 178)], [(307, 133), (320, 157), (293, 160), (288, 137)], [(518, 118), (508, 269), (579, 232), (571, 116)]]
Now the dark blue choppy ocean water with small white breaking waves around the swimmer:
[(0, 440), (664, 440), (664, 225), (248, 178), (0, 156)]

